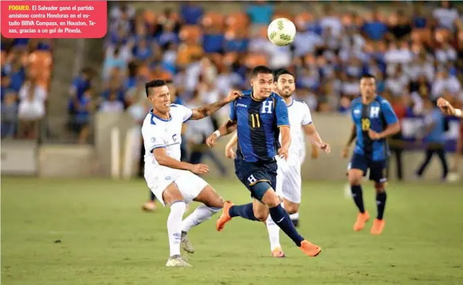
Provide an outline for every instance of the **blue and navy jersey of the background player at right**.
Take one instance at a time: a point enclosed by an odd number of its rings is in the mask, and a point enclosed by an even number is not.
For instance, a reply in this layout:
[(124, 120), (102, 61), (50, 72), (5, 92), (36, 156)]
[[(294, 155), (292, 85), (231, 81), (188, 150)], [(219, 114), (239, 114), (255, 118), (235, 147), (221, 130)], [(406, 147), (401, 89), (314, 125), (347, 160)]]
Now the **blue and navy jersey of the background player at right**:
[(368, 136), (369, 129), (381, 133), (388, 125), (398, 122), (388, 100), (376, 95), (371, 104), (365, 105), (362, 98), (356, 98), (352, 101), (351, 115), (357, 135), (354, 154), (368, 156), (376, 161), (388, 158), (389, 147), (385, 138), (371, 140)]

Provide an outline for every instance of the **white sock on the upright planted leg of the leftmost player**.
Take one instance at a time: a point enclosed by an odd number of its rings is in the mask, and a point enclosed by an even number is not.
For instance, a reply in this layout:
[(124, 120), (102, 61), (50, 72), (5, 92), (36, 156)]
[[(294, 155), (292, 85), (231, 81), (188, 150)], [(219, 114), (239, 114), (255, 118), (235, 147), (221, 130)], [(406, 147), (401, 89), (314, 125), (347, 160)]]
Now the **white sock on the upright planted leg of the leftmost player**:
[(176, 201), (170, 205), (170, 214), (167, 217), (167, 234), (169, 235), (170, 256), (180, 255), (181, 220), (185, 214), (186, 204)]

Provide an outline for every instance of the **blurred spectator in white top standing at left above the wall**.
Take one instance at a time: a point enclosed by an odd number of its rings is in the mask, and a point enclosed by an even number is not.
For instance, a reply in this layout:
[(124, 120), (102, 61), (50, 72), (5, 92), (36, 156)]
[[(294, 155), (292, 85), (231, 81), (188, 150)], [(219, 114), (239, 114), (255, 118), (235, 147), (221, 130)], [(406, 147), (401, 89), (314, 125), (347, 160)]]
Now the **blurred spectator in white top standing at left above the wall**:
[(47, 91), (32, 77), (19, 90), (19, 138), (37, 138), (39, 121), (45, 115)]

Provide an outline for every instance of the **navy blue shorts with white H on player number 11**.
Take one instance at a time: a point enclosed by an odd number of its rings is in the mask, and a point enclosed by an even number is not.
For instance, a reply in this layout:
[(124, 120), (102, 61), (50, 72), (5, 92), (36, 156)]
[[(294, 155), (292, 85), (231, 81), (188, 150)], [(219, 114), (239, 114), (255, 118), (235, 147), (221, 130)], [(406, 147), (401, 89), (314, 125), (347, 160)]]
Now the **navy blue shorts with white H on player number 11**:
[(268, 184), (273, 190), (276, 188), (277, 162), (272, 159), (249, 163), (237, 157), (235, 158), (235, 174), (251, 192), (251, 197), (262, 201), (266, 190), (269, 190)]

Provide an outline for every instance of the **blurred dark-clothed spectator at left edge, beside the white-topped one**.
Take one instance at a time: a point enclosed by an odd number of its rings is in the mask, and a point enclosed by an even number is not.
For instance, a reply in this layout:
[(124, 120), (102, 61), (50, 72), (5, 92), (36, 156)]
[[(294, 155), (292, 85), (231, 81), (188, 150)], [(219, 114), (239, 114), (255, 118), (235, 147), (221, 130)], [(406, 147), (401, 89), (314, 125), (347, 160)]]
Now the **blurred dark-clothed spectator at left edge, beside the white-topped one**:
[(1, 138), (13, 138), (17, 126), (17, 95), (11, 89), (3, 93), (4, 100), (1, 103)]

